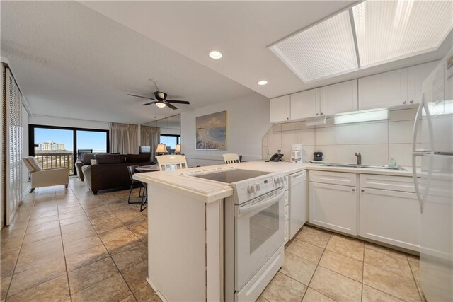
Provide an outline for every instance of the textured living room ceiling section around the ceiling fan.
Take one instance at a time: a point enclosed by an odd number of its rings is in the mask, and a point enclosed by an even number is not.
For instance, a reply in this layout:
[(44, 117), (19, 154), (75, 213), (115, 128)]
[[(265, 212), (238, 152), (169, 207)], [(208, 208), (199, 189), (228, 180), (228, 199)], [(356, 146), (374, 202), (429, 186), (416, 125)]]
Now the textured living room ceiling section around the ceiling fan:
[[(33, 114), (144, 123), (253, 94), (239, 83), (71, 1), (1, 1), (1, 57)], [(142, 106), (149, 78), (179, 110)]]

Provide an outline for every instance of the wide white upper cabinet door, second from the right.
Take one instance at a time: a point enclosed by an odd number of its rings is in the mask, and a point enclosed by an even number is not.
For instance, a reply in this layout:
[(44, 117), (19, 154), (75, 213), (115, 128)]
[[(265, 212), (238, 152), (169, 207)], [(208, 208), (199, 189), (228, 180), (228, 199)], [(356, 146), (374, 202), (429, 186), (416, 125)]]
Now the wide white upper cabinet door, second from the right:
[(387, 108), (407, 103), (406, 68), (359, 79), (359, 110)]

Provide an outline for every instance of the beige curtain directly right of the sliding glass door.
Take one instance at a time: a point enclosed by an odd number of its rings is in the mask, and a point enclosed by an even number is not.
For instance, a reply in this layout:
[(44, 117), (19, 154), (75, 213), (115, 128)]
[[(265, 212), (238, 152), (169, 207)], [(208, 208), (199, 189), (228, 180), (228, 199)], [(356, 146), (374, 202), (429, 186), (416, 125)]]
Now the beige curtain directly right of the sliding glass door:
[(139, 150), (137, 124), (110, 123), (110, 152), (136, 154)]

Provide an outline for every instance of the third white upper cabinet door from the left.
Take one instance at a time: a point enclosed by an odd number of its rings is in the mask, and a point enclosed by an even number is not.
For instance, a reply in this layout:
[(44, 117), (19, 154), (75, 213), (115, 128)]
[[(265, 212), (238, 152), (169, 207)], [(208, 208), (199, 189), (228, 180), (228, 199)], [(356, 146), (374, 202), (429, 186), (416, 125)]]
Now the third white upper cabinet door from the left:
[(321, 87), (320, 115), (357, 111), (357, 80)]

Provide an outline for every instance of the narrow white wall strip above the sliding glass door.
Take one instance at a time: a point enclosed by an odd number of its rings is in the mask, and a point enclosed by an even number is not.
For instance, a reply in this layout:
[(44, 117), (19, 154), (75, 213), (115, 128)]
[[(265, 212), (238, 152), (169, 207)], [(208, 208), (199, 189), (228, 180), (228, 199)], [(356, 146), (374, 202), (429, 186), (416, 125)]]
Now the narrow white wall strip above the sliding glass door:
[(51, 117), (48, 115), (32, 115), (28, 121), (29, 124), (40, 124), (57, 127), (74, 127), (87, 129), (103, 129), (110, 128), (109, 122), (98, 122), (92, 120), (69, 119), (67, 117)]

